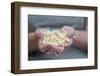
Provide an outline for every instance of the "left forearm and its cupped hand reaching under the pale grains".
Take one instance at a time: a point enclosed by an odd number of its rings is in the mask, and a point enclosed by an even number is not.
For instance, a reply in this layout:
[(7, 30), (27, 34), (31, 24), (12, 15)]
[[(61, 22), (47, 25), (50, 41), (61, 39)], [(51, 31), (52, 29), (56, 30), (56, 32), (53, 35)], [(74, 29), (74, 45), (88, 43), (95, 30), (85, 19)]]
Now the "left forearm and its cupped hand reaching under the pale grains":
[[(37, 29), (35, 32), (29, 33), (29, 52), (31, 53), (32, 49), (39, 49), (41, 52), (45, 54), (61, 54), (64, 50), (62, 46), (53, 46), (46, 43), (43, 43), (43, 37), (47, 29), (41, 28)], [(67, 45), (66, 45), (67, 46)]]

